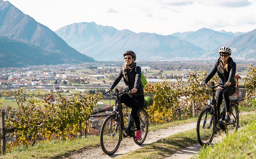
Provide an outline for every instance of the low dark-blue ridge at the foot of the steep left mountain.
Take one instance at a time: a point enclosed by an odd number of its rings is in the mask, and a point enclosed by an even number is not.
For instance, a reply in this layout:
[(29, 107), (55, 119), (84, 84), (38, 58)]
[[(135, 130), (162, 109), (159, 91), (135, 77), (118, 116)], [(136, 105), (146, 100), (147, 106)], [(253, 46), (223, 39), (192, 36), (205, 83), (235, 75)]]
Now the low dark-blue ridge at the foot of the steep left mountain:
[(64, 57), (58, 51), (47, 50), (24, 40), (0, 36), (0, 67), (60, 64), (63, 63), (62, 58)]

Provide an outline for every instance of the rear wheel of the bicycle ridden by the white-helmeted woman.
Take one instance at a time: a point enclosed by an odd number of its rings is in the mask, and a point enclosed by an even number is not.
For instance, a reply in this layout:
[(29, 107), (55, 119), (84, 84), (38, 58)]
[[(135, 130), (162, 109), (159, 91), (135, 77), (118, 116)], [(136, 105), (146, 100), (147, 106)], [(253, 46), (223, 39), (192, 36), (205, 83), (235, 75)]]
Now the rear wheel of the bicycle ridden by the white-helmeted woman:
[(230, 105), (229, 108), (229, 123), (224, 123), (226, 125), (226, 134), (230, 132), (237, 131), (239, 128), (239, 110), (236, 105)]

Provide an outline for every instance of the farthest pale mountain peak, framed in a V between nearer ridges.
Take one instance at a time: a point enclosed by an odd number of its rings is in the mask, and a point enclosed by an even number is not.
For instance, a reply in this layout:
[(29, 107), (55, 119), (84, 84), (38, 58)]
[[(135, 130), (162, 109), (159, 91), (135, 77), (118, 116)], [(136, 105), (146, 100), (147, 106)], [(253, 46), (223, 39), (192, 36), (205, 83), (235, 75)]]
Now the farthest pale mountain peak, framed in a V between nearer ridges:
[(171, 34), (171, 36), (176, 36), (181, 40), (187, 40), (206, 51), (211, 51), (220, 44), (234, 38), (235, 34), (232, 35), (231, 33), (227, 32), (219, 32), (207, 28), (202, 28), (198, 31), (188, 31), (183, 33), (177, 32)]

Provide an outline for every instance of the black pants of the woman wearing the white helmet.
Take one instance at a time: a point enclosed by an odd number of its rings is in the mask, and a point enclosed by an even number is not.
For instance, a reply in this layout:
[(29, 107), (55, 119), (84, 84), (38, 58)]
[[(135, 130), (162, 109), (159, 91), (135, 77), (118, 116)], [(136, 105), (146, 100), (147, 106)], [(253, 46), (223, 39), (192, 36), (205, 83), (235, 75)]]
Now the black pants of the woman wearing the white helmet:
[[(235, 93), (235, 87), (234, 86), (229, 86), (223, 89), (217, 89), (216, 91), (216, 102), (217, 102), (217, 110), (218, 110), (218, 117), (220, 118), (220, 105), (224, 99), (224, 106), (226, 112), (229, 112), (229, 106), (230, 106), (230, 101), (229, 101), (229, 96), (232, 96)], [(224, 114), (225, 115), (225, 114)]]

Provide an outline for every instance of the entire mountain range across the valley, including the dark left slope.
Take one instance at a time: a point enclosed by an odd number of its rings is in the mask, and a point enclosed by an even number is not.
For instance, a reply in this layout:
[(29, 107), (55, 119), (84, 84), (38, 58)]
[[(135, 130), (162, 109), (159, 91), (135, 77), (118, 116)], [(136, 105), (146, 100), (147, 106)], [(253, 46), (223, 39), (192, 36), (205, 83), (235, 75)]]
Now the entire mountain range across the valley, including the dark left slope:
[(210, 59), (219, 56), (220, 46), (229, 46), (234, 58), (256, 59), (256, 30), (202, 28), (163, 36), (80, 22), (53, 32), (0, 0), (0, 67), (121, 60), (127, 50), (138, 60)]

